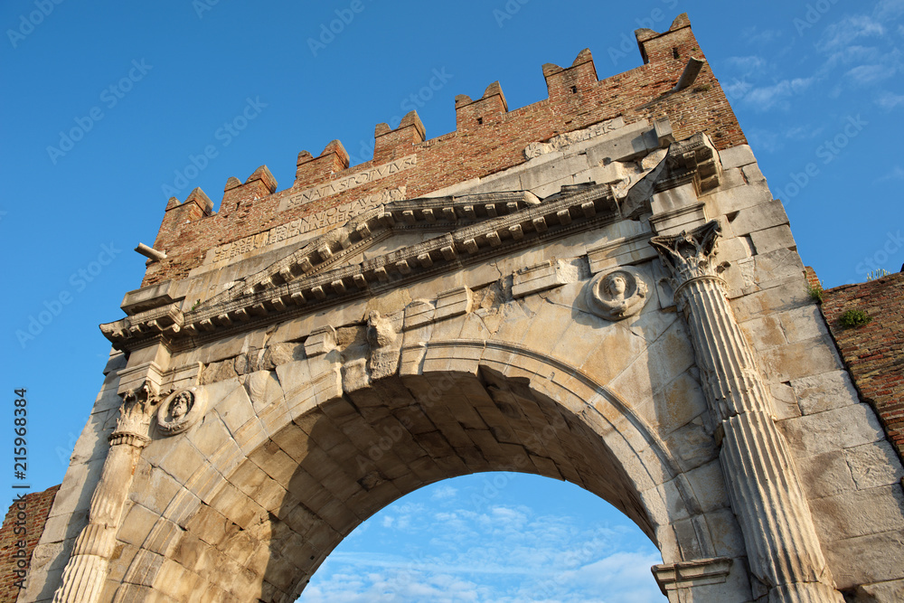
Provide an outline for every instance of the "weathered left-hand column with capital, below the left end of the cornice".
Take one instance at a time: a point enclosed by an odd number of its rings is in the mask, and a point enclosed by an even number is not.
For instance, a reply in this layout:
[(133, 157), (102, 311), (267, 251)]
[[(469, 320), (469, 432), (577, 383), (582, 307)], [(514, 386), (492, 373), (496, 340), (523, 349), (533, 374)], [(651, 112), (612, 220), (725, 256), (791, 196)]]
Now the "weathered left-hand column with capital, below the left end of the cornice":
[(110, 449), (100, 481), (91, 496), (88, 525), (75, 541), (62, 573), (62, 584), (53, 595), (54, 603), (96, 603), (99, 600), (138, 457), (149, 441), (155, 393), (153, 384), (145, 382), (137, 391), (129, 391), (124, 397), (117, 427), (109, 438)]

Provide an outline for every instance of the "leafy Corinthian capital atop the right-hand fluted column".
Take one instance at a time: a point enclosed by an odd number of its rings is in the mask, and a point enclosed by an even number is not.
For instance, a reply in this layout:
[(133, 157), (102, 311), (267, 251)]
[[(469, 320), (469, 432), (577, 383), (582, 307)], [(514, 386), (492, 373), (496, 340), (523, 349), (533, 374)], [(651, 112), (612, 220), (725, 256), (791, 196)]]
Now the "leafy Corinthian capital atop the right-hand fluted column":
[(719, 234), (719, 222), (712, 220), (690, 232), (681, 231), (680, 234), (650, 240), (672, 277), (676, 293), (695, 278), (718, 276), (713, 247)]

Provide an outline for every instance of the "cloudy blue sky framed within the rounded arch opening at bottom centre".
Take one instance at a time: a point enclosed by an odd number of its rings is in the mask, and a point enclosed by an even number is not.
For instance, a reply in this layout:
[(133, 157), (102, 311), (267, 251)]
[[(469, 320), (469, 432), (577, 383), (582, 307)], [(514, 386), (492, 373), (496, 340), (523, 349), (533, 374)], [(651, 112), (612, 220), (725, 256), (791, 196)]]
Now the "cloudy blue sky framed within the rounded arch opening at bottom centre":
[(424, 486), (349, 534), (298, 603), (664, 601), (660, 552), (578, 485), (482, 473)]

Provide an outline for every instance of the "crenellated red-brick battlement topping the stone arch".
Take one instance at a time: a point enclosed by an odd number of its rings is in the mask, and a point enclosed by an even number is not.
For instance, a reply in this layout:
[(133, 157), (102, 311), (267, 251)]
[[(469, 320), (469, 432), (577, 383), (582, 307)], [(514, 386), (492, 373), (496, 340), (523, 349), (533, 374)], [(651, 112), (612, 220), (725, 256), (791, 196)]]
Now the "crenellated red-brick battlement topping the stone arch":
[(226, 182), (219, 212), (201, 189), (184, 203), (170, 199), (154, 247), (167, 258), (149, 262), (142, 286), (185, 278), (201, 265), (208, 250), (282, 224), (297, 221), (342, 203), (405, 187), (416, 198), (447, 186), (519, 165), (527, 161), (531, 143), (620, 117), (626, 124), (669, 118), (676, 139), (706, 132), (718, 149), (746, 143), (737, 118), (709, 65), (694, 83), (674, 91), (689, 59), (704, 59), (687, 15), (675, 19), (669, 31), (637, 30), (645, 64), (598, 80), (589, 50), (570, 67), (543, 65), (549, 98), (509, 110), (498, 82), (480, 99), (459, 95), (455, 101), (456, 130), (427, 139), (416, 112), (391, 129), (374, 129), (374, 156), (349, 166), (349, 155), (334, 140), (316, 157), (302, 151), (296, 180), (277, 192), (277, 182), (260, 166), (241, 183)]

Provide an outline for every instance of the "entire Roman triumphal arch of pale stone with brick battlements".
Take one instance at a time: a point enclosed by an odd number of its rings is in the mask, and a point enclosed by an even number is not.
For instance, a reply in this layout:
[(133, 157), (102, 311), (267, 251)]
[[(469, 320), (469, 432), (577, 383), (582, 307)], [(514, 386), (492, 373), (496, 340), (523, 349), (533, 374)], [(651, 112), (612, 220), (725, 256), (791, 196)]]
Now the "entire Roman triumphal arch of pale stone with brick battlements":
[(494, 84), (444, 137), (170, 200), (25, 600), (292, 601), (372, 513), (494, 470), (617, 506), (671, 601), (894, 600), (900, 467), (782, 204), (686, 17), (637, 37), (530, 111)]

